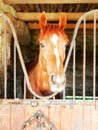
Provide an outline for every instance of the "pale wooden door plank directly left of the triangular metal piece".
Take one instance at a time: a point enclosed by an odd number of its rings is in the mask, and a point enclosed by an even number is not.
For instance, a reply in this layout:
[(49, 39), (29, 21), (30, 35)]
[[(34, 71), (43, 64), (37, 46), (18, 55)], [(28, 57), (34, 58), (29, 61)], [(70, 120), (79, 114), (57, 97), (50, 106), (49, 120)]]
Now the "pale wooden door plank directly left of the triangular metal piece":
[(24, 105), (11, 105), (11, 130), (20, 130), (24, 123), (25, 111)]

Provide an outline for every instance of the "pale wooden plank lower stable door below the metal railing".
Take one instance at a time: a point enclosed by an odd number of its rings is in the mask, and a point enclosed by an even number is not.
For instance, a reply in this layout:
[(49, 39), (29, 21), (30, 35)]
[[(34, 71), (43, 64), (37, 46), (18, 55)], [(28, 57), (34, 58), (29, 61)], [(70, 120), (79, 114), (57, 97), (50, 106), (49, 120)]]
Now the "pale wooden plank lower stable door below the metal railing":
[[(98, 130), (98, 110), (93, 104), (78, 104), (71, 108), (70, 105), (32, 107), (21, 103), (0, 104), (0, 130), (21, 130), (23, 123), (38, 110), (55, 125), (56, 130)], [(29, 130), (36, 130), (35, 126), (33, 122)]]

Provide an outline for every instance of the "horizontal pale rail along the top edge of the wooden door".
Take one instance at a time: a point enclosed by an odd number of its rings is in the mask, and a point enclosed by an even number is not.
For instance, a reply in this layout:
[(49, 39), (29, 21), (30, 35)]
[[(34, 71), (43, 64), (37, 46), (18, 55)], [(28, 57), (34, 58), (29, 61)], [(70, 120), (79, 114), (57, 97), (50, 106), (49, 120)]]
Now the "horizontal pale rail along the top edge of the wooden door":
[[(73, 101), (73, 102), (72, 102)], [(22, 105), (31, 105), (32, 107), (37, 107), (37, 106), (43, 106), (43, 105), (47, 105), (47, 106), (51, 106), (51, 105), (96, 105), (98, 104), (98, 97), (96, 97), (96, 102), (93, 100), (93, 97), (91, 96), (87, 96), (85, 97), (85, 100), (83, 100), (82, 96), (75, 96), (75, 100), (73, 100), (72, 96), (66, 96), (66, 100), (62, 100), (62, 99), (56, 99), (56, 100), (40, 100), (40, 99), (17, 99), (17, 100), (13, 100), (13, 99), (6, 99), (6, 102), (8, 104), (22, 104)], [(4, 104), (5, 100), (0, 99), (0, 105)]]

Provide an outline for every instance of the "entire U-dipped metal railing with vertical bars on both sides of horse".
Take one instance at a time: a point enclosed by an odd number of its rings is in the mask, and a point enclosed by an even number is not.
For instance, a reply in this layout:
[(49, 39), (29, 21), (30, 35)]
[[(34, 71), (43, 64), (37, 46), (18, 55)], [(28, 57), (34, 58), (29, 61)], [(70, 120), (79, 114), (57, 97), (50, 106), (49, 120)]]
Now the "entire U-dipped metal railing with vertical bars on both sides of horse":
[[(92, 10), (90, 12), (87, 12), (85, 13), (83, 16), (80, 17), (80, 19), (78, 20), (77, 24), (76, 24), (76, 27), (74, 29), (74, 34), (73, 34), (73, 37), (72, 37), (72, 41), (71, 41), (71, 45), (70, 45), (70, 49), (69, 49), (69, 52), (67, 54), (67, 59), (65, 61), (65, 65), (64, 65), (64, 71), (65, 73), (67, 73), (67, 69), (68, 69), (68, 65), (69, 65), (69, 62), (70, 62), (70, 58), (71, 56), (73, 55), (73, 75), (72, 75), (72, 89), (73, 89), (73, 93), (72, 93), (72, 99), (75, 100), (76, 99), (76, 57), (77, 57), (77, 54), (76, 54), (76, 49), (77, 49), (77, 35), (78, 35), (78, 30), (79, 30), (79, 26), (80, 24), (83, 24), (83, 95), (82, 95), (82, 98), (83, 100), (86, 99), (86, 94), (85, 94), (85, 91), (86, 91), (86, 45), (87, 45), (87, 32), (86, 32), (86, 23), (87, 23), (87, 19), (89, 18), (90, 15), (93, 16), (93, 20), (92, 20), (92, 23), (93, 23), (93, 36), (92, 36), (92, 39), (93, 39), (93, 100), (95, 101), (96, 99), (96, 66), (97, 66), (97, 63), (96, 63), (96, 24), (97, 24), (97, 14), (98, 14), (98, 10)], [(8, 17), (6, 17), (4, 14), (0, 14), (0, 18), (2, 17), (2, 19), (4, 20), (4, 50), (7, 50), (7, 46), (6, 46), (6, 24), (9, 24), (9, 27), (11, 29), (11, 32), (12, 32), (12, 36), (13, 36), (13, 39), (14, 39), (14, 99), (17, 98), (17, 95), (16, 95), (16, 77), (17, 77), (17, 65), (16, 65), (16, 53), (18, 53), (18, 56), (19, 56), (19, 59), (20, 59), (20, 63), (21, 63), (21, 66), (22, 66), (22, 70), (23, 70), (23, 74), (24, 74), (24, 99), (26, 99), (26, 84), (28, 86), (28, 89), (29, 91), (35, 96), (35, 98), (46, 98), (46, 99), (49, 99), (49, 98), (52, 98), (54, 97), (55, 99), (55, 95), (57, 93), (54, 93), (50, 96), (39, 96), (37, 95), (31, 88), (31, 85), (30, 85), (30, 82), (29, 82), (29, 78), (28, 78), (28, 74), (27, 74), (27, 71), (26, 71), (26, 67), (25, 67), (25, 64), (24, 64), (24, 60), (23, 60), (23, 56), (21, 54), (21, 49), (20, 49), (20, 46), (19, 46), (19, 43), (18, 43), (18, 39), (17, 39), (17, 36), (16, 36), (16, 32), (15, 32), (15, 28), (12, 24), (12, 22), (10, 21), (10, 19)], [(6, 54), (6, 51), (4, 51), (4, 99), (7, 99), (7, 54)], [(63, 91), (63, 99), (66, 98), (66, 88), (65, 90)]]

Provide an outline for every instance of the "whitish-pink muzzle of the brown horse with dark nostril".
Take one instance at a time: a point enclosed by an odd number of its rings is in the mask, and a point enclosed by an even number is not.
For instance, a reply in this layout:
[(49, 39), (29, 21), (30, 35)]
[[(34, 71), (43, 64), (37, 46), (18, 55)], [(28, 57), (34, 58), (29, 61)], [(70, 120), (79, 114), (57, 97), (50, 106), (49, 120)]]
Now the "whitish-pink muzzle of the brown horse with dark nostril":
[(51, 92), (61, 92), (66, 85), (66, 77), (61, 74), (52, 73), (49, 78)]

